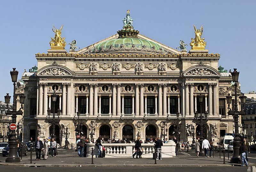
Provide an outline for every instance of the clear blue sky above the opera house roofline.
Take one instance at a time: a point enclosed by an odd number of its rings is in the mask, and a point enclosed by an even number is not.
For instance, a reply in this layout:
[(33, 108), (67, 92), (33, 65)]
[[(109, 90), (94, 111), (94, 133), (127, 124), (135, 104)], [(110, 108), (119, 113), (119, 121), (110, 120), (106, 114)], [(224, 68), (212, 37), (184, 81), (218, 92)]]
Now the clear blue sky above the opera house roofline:
[(21, 78), (24, 69), (37, 64), (35, 54), (50, 49), (52, 24), (64, 24), (66, 42), (76, 39), (76, 46), (84, 48), (122, 29), (127, 9), (134, 29), (172, 48), (180, 40), (189, 44), (195, 36), (193, 25), (203, 25), (209, 53), (219, 53), (219, 65), (228, 71), (240, 71), (242, 92), (256, 90), (255, 6), (255, 0), (1, 1), (0, 100), (6, 93), (12, 95), (12, 67)]

